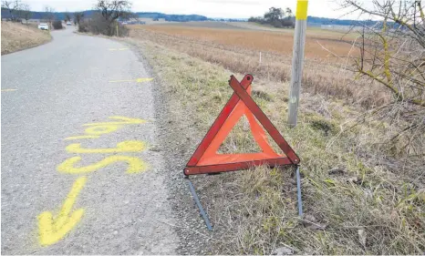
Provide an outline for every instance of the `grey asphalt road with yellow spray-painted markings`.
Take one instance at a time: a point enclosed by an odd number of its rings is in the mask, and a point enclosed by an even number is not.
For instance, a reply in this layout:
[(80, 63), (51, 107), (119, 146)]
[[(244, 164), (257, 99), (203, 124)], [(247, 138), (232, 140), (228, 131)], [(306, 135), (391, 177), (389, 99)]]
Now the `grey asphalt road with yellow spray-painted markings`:
[(174, 253), (154, 81), (72, 30), (2, 56), (2, 254)]

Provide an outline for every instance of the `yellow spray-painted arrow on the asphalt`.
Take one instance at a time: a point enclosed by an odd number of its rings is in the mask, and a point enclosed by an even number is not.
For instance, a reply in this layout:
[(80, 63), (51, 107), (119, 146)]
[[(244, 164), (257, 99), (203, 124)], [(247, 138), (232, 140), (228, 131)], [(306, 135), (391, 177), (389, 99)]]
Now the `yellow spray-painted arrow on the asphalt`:
[(84, 214), (84, 209), (80, 208), (75, 210), (70, 216), (69, 213), (71, 213), (72, 206), (77, 200), (79, 191), (83, 189), (86, 181), (86, 177), (81, 177), (74, 182), (72, 189), (69, 194), (67, 194), (67, 199), (62, 205), (62, 208), (56, 218), (53, 217), (53, 214), (50, 211), (45, 211), (38, 215), (38, 241), (41, 245), (52, 245), (57, 241), (60, 241), (65, 237), (67, 232), (72, 230), (79, 220), (81, 220), (81, 217)]

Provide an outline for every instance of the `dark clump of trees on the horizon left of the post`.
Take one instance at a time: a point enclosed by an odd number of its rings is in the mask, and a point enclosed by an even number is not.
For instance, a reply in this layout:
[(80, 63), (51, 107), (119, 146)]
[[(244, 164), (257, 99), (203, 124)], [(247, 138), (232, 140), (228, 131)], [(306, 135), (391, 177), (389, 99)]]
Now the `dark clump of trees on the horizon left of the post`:
[(268, 24), (275, 27), (295, 27), (294, 15), (291, 8), (271, 7), (264, 16), (250, 17), (249, 22), (256, 22), (260, 24)]

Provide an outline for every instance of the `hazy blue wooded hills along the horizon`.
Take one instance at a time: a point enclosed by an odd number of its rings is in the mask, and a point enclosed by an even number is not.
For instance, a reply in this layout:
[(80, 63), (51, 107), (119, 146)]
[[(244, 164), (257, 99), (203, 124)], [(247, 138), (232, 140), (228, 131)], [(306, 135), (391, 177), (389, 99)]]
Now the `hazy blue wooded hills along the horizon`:
[[(85, 16), (90, 16), (94, 13), (94, 10), (84, 11)], [(32, 19), (43, 19), (46, 17), (45, 12), (32, 12)], [(65, 12), (56, 12), (56, 18), (63, 20), (65, 18)], [(73, 15), (73, 13), (70, 13)], [(140, 18), (151, 18), (151, 19), (165, 19), (166, 21), (177, 21), (177, 22), (187, 22), (187, 21), (207, 21), (207, 20), (216, 20), (216, 21), (246, 21), (246, 19), (232, 19), (232, 18), (208, 18), (204, 15), (166, 15), (162, 13), (143, 13), (137, 12)], [(10, 18), (9, 13), (6, 9), (2, 8), (2, 18)], [(368, 25), (373, 25), (376, 22), (374, 21), (358, 21), (350, 19), (334, 19), (334, 18), (324, 18), (316, 16), (308, 16), (307, 24), (309, 26), (321, 26), (321, 25), (337, 25), (337, 26), (355, 26), (358, 24), (367, 23)]]

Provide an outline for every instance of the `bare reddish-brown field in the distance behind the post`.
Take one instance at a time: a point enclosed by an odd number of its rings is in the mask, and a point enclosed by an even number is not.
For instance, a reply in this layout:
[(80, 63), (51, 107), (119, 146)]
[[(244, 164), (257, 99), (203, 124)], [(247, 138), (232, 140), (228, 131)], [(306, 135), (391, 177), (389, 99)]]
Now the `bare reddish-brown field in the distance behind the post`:
[[(292, 55), (292, 45), (294, 44), (293, 30), (285, 31), (284, 29), (282, 29), (284, 32), (238, 29), (230, 32), (221, 28), (176, 25), (134, 26), (134, 29), (147, 29), (155, 33), (163, 33), (170, 36), (192, 37), (195, 40), (208, 41), (226, 46), (244, 47), (262, 52), (274, 52), (288, 56)], [(347, 56), (352, 42), (339, 40), (342, 36), (344, 35), (330, 31), (318, 33), (316, 30), (309, 30), (306, 40), (306, 58), (326, 60), (336, 58), (330, 55), (327, 50), (324, 50), (322, 46), (325, 46), (337, 56)]]

